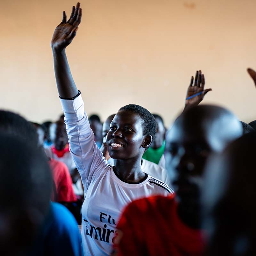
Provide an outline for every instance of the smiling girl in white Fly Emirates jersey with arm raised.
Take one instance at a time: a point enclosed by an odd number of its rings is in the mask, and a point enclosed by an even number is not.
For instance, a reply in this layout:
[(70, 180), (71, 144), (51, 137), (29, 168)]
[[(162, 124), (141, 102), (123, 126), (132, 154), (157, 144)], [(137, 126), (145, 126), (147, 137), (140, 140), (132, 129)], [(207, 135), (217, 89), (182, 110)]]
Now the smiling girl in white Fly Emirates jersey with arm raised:
[(71, 76), (65, 53), (76, 35), (81, 17), (79, 3), (76, 8), (73, 6), (68, 21), (63, 12), (51, 47), (70, 152), (86, 192), (82, 206), (84, 255), (110, 255), (123, 207), (140, 197), (167, 196), (173, 191), (141, 170), (141, 157), (156, 134), (155, 118), (145, 108), (133, 104), (124, 106), (111, 122), (106, 139), (109, 155), (116, 159), (116, 166), (108, 164), (95, 144), (84, 102)]

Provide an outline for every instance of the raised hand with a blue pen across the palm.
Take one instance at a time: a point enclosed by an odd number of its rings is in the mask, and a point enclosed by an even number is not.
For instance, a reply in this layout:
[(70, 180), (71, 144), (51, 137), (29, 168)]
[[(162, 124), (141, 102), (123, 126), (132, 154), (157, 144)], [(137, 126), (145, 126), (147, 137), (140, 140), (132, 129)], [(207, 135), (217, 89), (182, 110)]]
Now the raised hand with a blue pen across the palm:
[(192, 76), (186, 95), (185, 108), (186, 106), (197, 106), (204, 99), (204, 95), (207, 92), (212, 91), (212, 89), (204, 90), (205, 80), (201, 70), (196, 71), (194, 85), (193, 82), (194, 77)]

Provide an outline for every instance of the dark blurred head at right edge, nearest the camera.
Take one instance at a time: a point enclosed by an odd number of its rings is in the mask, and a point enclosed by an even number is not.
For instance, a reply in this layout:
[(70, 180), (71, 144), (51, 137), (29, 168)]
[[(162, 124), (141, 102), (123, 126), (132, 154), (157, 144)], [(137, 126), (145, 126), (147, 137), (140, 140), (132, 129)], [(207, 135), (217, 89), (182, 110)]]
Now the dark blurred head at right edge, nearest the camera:
[(256, 133), (231, 143), (212, 157), (205, 170), (203, 193), (209, 254), (256, 255)]

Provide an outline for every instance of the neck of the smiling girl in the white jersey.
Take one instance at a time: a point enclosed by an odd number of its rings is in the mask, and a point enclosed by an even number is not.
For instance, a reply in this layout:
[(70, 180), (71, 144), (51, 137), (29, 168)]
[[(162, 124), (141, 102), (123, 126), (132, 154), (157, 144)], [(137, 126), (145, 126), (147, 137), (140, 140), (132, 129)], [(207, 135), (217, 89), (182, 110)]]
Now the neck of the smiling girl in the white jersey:
[(145, 178), (145, 173), (141, 170), (141, 158), (116, 159), (115, 171), (122, 180), (128, 182), (140, 182)]

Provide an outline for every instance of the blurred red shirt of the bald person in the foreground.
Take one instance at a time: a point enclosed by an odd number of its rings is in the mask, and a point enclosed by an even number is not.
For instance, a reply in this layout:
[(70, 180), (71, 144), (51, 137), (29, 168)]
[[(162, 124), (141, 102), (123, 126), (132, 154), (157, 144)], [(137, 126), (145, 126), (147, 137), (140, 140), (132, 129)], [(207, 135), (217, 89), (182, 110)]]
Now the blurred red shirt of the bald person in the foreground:
[(173, 195), (133, 201), (124, 209), (117, 229), (114, 247), (118, 256), (203, 255), (202, 232), (181, 222)]

